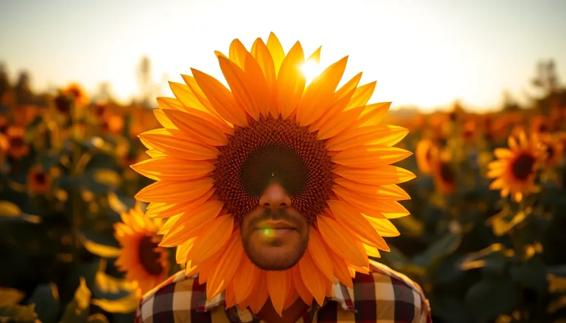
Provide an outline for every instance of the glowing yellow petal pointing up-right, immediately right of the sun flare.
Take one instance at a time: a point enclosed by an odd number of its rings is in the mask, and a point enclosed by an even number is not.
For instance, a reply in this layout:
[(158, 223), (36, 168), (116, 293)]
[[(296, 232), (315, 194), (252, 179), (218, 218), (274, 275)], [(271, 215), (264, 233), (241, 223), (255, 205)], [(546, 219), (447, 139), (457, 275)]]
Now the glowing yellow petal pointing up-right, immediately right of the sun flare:
[(297, 120), (300, 125), (310, 125), (332, 103), (332, 94), (344, 74), (347, 59), (346, 56), (328, 66), (308, 85), (297, 107)]

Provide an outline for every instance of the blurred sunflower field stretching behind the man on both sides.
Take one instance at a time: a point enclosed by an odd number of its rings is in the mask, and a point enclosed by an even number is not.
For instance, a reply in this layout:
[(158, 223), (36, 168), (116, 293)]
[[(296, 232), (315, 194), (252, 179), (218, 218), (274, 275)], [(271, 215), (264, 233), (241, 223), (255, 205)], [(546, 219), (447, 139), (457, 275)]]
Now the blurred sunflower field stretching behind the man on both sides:
[[(0, 322), (132, 322), (182, 269), (134, 199), (155, 177), (138, 134), (158, 114), (74, 83), (36, 95), (3, 78), (0, 97)], [(433, 322), (566, 322), (566, 90), (382, 123), (409, 129), (397, 164), (417, 177), (376, 260), (423, 287)]]

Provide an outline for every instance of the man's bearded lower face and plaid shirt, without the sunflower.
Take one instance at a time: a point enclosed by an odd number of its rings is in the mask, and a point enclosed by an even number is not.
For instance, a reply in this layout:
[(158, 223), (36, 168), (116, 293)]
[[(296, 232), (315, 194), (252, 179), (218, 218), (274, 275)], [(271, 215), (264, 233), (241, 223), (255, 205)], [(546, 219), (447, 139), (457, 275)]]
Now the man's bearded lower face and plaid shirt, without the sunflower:
[[(247, 256), (257, 266), (291, 267), (308, 244), (306, 220), (293, 207), (282, 185), (272, 183), (262, 194), (259, 205), (243, 216), (242, 242)], [(263, 240), (254, 227), (268, 210), (265, 222), (289, 222), (296, 232), (280, 233), (273, 240)], [(282, 212), (285, 211), (285, 212)], [(299, 298), (280, 317), (269, 300), (258, 313), (236, 308), (225, 309), (223, 295), (206, 301), (206, 286), (197, 276), (185, 276), (180, 271), (146, 294), (136, 312), (138, 323), (332, 323), (332, 322), (410, 322), (430, 323), (428, 301), (421, 288), (403, 274), (376, 262), (371, 262), (370, 274), (356, 274), (354, 288), (335, 285), (332, 297), (319, 307), (305, 304)]]

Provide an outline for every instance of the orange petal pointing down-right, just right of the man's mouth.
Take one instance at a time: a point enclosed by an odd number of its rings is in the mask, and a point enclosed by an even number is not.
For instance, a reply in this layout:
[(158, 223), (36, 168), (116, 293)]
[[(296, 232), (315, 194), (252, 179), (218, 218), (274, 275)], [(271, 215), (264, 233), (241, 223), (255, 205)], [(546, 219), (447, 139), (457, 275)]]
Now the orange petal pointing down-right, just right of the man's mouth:
[(360, 250), (356, 246), (356, 243), (361, 242), (341, 224), (327, 216), (319, 216), (317, 226), (324, 242), (334, 253), (343, 259), (347, 259), (349, 263), (359, 266), (365, 265), (365, 257), (367, 256), (360, 254)]

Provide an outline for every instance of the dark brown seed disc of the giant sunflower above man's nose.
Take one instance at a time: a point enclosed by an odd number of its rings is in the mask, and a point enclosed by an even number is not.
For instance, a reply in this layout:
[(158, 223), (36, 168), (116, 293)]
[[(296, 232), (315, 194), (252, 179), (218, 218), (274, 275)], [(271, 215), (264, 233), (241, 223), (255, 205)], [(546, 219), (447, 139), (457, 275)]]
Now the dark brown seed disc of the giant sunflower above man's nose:
[(294, 120), (251, 120), (247, 127), (236, 127), (219, 152), (214, 188), (237, 222), (258, 205), (273, 181), (283, 186), (309, 222), (321, 214), (332, 194), (334, 163), (325, 142)]

